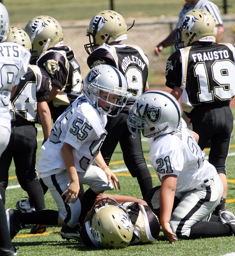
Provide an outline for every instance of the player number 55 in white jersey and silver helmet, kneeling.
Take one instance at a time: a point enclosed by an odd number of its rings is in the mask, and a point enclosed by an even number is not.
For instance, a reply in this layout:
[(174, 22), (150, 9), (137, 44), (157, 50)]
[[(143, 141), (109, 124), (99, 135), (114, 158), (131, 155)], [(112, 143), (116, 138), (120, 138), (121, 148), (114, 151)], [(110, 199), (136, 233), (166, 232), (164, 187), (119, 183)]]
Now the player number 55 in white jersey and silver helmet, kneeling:
[[(116, 68), (99, 65), (88, 72), (83, 92), (57, 119), (41, 147), (39, 176), (48, 186), (58, 211), (21, 213), (8, 209), (11, 238), (27, 224), (67, 224), (71, 228), (69, 234), (79, 237), (75, 226), (81, 209), (79, 222), (83, 223), (97, 195), (113, 190), (112, 181), (120, 189), (116, 175), (105, 165), (99, 149), (106, 136), (106, 116), (112, 116), (115, 109), (117, 115), (126, 104), (126, 79)], [(91, 165), (93, 161), (97, 166)], [(90, 186), (81, 202), (77, 200), (79, 182)]]

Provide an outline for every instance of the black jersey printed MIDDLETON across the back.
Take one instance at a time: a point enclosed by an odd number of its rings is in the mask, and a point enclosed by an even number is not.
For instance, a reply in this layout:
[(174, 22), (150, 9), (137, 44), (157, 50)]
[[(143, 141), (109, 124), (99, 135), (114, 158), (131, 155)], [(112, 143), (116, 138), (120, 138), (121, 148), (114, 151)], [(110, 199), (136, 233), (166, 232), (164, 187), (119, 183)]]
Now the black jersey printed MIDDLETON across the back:
[(90, 68), (107, 64), (122, 72), (127, 80), (128, 102), (135, 102), (145, 92), (148, 57), (136, 45), (102, 45), (89, 55), (87, 64)]

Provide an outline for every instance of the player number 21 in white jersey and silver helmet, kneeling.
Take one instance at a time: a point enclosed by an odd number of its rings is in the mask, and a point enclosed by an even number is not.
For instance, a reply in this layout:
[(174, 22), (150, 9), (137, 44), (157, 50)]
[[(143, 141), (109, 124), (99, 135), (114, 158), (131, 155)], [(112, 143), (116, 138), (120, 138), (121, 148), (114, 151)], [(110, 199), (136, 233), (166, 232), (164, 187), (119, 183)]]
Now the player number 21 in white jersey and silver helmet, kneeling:
[[(181, 118), (177, 100), (159, 90), (146, 92), (130, 109), (127, 122), (134, 137), (141, 131), (148, 138), (149, 161), (162, 182), (149, 206), (153, 211), (160, 207), (160, 224), (169, 242), (233, 235), (235, 217), (230, 211), (202, 221), (220, 202), (223, 184), (205, 160), (197, 135)], [(175, 195), (180, 202), (173, 209)]]

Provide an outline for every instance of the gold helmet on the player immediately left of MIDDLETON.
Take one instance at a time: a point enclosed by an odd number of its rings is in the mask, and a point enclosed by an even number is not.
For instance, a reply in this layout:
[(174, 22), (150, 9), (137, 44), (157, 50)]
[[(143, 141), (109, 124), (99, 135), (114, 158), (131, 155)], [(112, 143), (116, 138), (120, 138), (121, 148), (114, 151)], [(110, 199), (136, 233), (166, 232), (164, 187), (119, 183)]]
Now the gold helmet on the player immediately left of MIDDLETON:
[(62, 27), (50, 16), (37, 16), (31, 19), (25, 26), (25, 32), (29, 35), (32, 50), (36, 51), (38, 56), (51, 47), (64, 45)]

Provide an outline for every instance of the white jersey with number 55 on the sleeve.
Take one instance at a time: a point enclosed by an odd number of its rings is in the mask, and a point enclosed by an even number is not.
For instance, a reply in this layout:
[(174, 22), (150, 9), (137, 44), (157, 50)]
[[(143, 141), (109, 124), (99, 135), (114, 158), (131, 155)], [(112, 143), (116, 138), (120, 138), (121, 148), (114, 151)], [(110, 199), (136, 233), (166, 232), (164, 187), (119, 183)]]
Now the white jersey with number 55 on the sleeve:
[(73, 149), (75, 168), (86, 171), (93, 163), (106, 137), (104, 129), (106, 115), (98, 113), (85, 96), (79, 96), (66, 111), (59, 116), (51, 129), (50, 137), (41, 147), (38, 162), (40, 178), (45, 178), (65, 170), (61, 155), (64, 142)]

